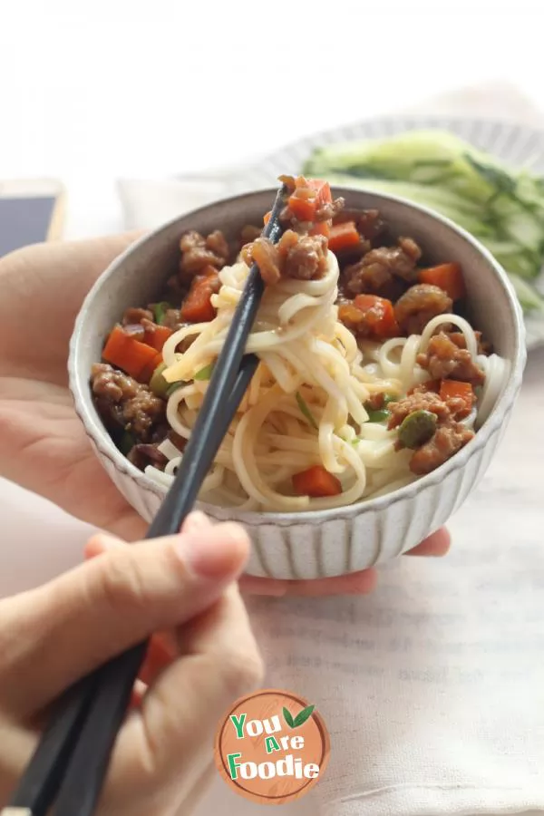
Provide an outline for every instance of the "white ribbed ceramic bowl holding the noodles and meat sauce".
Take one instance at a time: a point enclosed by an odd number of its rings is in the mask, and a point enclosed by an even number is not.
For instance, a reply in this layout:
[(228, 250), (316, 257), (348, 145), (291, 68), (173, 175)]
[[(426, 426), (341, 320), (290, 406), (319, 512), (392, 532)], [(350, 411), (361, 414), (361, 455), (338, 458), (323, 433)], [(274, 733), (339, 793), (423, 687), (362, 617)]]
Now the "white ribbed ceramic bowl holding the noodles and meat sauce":
[[(70, 345), (69, 376), (75, 410), (105, 470), (142, 518), (151, 520), (165, 494), (117, 450), (92, 403), (91, 366), (126, 307), (145, 304), (177, 267), (180, 235), (221, 228), (237, 235), (259, 223), (275, 190), (224, 199), (198, 209), (137, 241), (118, 257), (86, 297)], [(199, 505), (216, 520), (242, 522), (253, 540), (248, 573), (271, 578), (324, 578), (392, 559), (413, 548), (457, 510), (481, 479), (520, 390), (526, 352), (520, 307), (491, 255), (471, 236), (429, 210), (400, 199), (335, 189), (355, 209), (379, 209), (397, 235), (420, 243), (427, 260), (461, 263), (471, 322), (508, 361), (509, 373), (495, 406), (475, 438), (442, 467), (402, 490), (336, 510), (306, 513), (240, 513)]]

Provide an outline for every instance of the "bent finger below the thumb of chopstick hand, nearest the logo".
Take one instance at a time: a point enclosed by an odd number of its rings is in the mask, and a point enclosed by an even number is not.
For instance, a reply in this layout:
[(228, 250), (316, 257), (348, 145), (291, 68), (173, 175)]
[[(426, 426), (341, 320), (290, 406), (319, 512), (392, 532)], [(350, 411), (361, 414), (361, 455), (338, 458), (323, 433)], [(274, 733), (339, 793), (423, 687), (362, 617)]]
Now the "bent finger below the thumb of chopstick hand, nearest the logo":
[[(182, 794), (209, 763), (213, 734), (228, 705), (262, 682), (263, 666), (238, 588), (180, 630), (185, 653), (160, 675), (141, 710), (121, 729), (106, 784), (106, 813), (129, 789)], [(155, 804), (155, 811), (158, 810)]]

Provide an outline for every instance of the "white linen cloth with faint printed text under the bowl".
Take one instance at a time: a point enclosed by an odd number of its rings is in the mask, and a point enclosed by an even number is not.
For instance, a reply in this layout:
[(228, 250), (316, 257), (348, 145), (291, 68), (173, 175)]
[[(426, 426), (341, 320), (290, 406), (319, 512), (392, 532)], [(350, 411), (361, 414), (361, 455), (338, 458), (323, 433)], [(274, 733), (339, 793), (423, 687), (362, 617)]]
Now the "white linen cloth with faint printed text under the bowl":
[[(501, 83), (417, 112), (542, 123)], [(232, 172), (121, 181), (126, 226), (152, 228), (226, 194)], [(267, 685), (316, 703), (331, 732), (323, 780), (286, 813), (544, 811), (543, 369), (544, 354), (531, 355), (500, 454), (452, 520), (450, 556), (396, 560), (373, 597), (251, 603)], [(220, 780), (199, 814), (218, 808), (260, 812)]]

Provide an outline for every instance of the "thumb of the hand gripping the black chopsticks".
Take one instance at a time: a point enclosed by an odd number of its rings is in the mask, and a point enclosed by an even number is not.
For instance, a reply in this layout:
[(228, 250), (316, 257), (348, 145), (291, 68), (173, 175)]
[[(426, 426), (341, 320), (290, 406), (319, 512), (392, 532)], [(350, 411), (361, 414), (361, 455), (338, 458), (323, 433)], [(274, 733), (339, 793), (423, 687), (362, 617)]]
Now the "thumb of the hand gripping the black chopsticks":
[(248, 549), (235, 524), (113, 547), (3, 601), (2, 704), (12, 712), (40, 708), (95, 666), (199, 614), (238, 578)]

